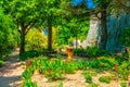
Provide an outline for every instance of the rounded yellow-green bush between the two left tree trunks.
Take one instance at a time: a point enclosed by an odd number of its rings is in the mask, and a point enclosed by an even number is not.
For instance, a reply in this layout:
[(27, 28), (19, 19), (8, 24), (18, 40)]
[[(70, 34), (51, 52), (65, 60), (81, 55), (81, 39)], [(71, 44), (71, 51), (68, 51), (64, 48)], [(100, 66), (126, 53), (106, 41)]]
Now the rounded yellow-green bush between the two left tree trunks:
[(42, 30), (31, 29), (26, 36), (26, 49), (43, 49), (47, 47), (47, 36), (42, 34)]

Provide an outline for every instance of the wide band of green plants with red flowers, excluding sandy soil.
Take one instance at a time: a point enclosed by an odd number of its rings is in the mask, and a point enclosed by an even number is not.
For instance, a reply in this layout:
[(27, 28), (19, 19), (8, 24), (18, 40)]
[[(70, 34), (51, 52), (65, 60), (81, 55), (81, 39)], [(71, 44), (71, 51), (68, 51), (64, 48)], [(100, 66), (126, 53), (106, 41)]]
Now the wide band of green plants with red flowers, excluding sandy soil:
[[(109, 72), (110, 74), (116, 72), (119, 80), (128, 80), (127, 77), (130, 73), (128, 69), (123, 67), (129, 67), (129, 63), (128, 61), (126, 63), (123, 62), (126, 62), (126, 60), (120, 61), (120, 59), (114, 57), (101, 57), (100, 59), (93, 60), (78, 59), (72, 62), (68, 62), (62, 57), (54, 59), (34, 57), (26, 60), (27, 67), (23, 73), (23, 78), (25, 82), (27, 82), (27, 79), (30, 80), (30, 77), (37, 72), (38, 74), (44, 75), (51, 82), (64, 80), (66, 78), (65, 74), (74, 74), (76, 71), (80, 70), (84, 71), (82, 75), (86, 82), (90, 84), (90, 87), (99, 87), (99, 85), (93, 83), (93, 77), (103, 72)], [(115, 74), (113, 75), (114, 77), (101, 76), (99, 80), (109, 84), (110, 80), (115, 79)]]

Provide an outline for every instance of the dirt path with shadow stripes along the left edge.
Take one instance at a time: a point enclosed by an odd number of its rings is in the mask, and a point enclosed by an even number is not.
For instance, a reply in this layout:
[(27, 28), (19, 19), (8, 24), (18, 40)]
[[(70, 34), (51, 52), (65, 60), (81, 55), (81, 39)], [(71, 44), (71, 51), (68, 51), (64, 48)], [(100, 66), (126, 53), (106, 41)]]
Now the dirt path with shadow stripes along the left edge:
[(24, 65), (18, 61), (18, 52), (11, 53), (0, 67), (0, 87), (21, 87), (23, 72)]

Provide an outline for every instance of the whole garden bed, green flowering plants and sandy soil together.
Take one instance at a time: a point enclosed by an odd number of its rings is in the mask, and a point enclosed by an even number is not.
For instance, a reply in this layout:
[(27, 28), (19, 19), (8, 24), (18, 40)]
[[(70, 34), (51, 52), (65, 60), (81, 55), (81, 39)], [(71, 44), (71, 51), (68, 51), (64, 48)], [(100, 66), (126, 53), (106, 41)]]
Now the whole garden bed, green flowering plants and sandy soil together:
[(31, 87), (127, 87), (130, 83), (129, 64), (130, 61), (113, 57), (73, 61), (61, 57), (56, 59), (39, 57), (26, 61), (23, 85)]

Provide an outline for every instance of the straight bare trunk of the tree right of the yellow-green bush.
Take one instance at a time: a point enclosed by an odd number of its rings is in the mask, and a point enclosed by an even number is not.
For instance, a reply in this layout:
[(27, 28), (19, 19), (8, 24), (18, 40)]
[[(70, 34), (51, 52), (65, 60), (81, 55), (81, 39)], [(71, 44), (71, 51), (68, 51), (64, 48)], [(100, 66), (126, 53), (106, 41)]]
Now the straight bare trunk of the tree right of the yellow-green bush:
[(48, 50), (52, 51), (52, 22), (51, 20), (48, 20)]

